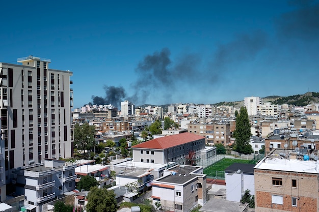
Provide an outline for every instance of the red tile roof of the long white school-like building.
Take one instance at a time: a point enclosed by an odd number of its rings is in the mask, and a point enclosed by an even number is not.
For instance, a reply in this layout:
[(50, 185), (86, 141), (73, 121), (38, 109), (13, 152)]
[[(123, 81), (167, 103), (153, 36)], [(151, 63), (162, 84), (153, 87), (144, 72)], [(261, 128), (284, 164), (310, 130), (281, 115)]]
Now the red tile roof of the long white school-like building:
[(204, 139), (205, 137), (195, 135), (193, 133), (180, 133), (176, 135), (165, 136), (161, 138), (156, 138), (144, 143), (132, 146), (132, 148), (153, 148), (153, 149), (167, 149), (174, 146), (178, 146), (184, 143), (189, 143), (192, 141), (197, 141)]

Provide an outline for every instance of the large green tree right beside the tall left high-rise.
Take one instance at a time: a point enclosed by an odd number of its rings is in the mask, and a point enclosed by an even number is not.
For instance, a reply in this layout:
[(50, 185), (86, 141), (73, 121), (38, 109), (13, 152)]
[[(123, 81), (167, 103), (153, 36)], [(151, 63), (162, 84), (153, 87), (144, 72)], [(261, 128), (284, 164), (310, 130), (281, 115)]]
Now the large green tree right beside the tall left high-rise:
[(80, 150), (89, 150), (95, 146), (95, 127), (84, 123), (74, 125), (74, 144)]

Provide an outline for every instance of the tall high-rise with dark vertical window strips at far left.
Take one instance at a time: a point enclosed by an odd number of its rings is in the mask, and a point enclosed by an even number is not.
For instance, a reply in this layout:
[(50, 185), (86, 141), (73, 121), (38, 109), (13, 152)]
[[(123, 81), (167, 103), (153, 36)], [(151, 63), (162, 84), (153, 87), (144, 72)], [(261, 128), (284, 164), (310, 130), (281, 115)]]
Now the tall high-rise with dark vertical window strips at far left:
[(22, 65), (0, 63), (7, 184), (13, 168), (73, 155), (72, 72), (49, 69), (50, 59), (34, 56), (18, 58), (18, 63)]

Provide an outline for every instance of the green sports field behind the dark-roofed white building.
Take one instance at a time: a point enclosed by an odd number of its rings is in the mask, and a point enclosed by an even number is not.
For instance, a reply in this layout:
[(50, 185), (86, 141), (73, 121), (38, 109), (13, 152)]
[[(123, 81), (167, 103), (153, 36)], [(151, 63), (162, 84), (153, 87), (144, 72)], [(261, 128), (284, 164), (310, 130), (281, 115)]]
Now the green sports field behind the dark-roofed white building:
[(241, 160), (241, 159), (231, 159), (231, 158), (223, 158), (211, 166), (208, 166), (204, 169), (204, 174), (207, 174), (208, 177), (213, 178), (225, 178), (224, 170), (232, 165), (233, 163), (255, 163), (250, 160)]

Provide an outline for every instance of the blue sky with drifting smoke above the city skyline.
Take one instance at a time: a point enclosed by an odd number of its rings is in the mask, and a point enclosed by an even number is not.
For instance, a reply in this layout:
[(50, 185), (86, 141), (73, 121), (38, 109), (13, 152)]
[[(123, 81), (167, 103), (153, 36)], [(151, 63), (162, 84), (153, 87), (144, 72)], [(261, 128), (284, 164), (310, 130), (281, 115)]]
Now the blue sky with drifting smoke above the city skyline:
[(0, 62), (72, 71), (74, 108), (289, 96), (319, 92), (318, 20), (318, 1), (6, 1)]

